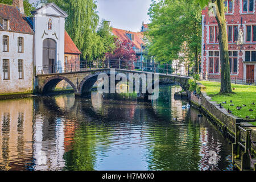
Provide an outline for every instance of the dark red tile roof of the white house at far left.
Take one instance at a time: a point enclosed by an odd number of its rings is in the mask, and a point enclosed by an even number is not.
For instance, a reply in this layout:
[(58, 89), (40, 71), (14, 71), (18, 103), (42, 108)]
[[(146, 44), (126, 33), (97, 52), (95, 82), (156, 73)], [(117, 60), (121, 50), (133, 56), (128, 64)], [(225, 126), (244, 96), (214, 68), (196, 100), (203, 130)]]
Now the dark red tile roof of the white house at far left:
[[(5, 5), (0, 3), (0, 18), (9, 19), (10, 30), (7, 31), (34, 34), (34, 31), (26, 22), (26, 20), (24, 20), (22, 14), (19, 13), (19, 10), (12, 5)], [(0, 30), (3, 30), (3, 27), (0, 26)]]

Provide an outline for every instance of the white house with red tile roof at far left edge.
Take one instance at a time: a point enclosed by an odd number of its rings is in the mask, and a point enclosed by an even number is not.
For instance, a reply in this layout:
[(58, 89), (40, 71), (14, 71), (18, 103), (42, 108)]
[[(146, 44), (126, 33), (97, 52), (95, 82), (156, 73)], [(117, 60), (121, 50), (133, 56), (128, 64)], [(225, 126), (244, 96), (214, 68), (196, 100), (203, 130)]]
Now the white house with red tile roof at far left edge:
[(23, 14), (23, 9), (0, 4), (0, 95), (33, 89), (34, 32)]

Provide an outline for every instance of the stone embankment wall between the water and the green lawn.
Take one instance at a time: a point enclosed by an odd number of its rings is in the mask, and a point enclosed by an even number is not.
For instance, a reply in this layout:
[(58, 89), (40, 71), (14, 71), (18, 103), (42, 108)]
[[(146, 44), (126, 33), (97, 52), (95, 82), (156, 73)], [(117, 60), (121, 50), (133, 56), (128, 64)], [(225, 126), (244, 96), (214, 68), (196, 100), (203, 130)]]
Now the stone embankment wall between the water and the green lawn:
[[(205, 93), (205, 86), (199, 84), (201, 87), (200, 94), (193, 94), (193, 92), (189, 92), (189, 101), (191, 101), (191, 106), (200, 110), (210, 122), (216, 125), (217, 129), (221, 131), (224, 137), (230, 139), (232, 142), (235, 140), (236, 136), (236, 123), (241, 123), (241, 126), (250, 125), (249, 122), (253, 120), (242, 119), (234, 116), (233, 114), (229, 114), (228, 111), (224, 108), (220, 108), (219, 104), (212, 100), (211, 97)], [(256, 130), (254, 128), (248, 128), (252, 130), (252, 138), (253, 141), (256, 141)], [(245, 136), (242, 136), (245, 137)], [(254, 152), (256, 151), (255, 146), (251, 146)]]

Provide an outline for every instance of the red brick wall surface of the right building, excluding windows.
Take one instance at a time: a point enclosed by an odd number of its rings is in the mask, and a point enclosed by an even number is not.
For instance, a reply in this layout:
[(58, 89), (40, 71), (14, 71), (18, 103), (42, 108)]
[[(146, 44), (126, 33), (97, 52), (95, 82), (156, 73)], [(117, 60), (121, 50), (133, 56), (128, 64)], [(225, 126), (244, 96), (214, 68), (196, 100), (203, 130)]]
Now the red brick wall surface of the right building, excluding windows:
[[(246, 79), (246, 65), (253, 64), (254, 65), (254, 80), (256, 80), (256, 62), (246, 62), (245, 63), (245, 51), (256, 51), (256, 42), (251, 41), (250, 43), (245, 42), (246, 40), (246, 26), (247, 25), (256, 25), (256, 1), (254, 1), (254, 10), (252, 13), (242, 13), (242, 0), (234, 0), (233, 1), (233, 10), (232, 13), (228, 13), (225, 15), (227, 28), (228, 26), (237, 26), (238, 32), (241, 29), (243, 32), (243, 45), (242, 50), (241, 47), (237, 45), (236, 42), (232, 41), (229, 43), (229, 51), (237, 51), (238, 52), (238, 65), (237, 65), (237, 73), (231, 73), (230, 77), (232, 79)], [(201, 71), (203, 72), (203, 77), (208, 75), (209, 78), (220, 78), (220, 62), (219, 62), (219, 71), (218, 73), (209, 73), (209, 51), (220, 51), (219, 45), (217, 42), (210, 43), (209, 35), (210, 35), (210, 26), (217, 26), (217, 20), (213, 16), (209, 16), (208, 8), (204, 9), (202, 12), (202, 64)], [(215, 32), (214, 32), (215, 34)], [(232, 39), (233, 30), (232, 30)], [(251, 38), (252, 39), (252, 38)], [(219, 60), (220, 61), (220, 60)], [(213, 64), (214, 65), (214, 64)], [(233, 66), (232, 66), (233, 67)]]

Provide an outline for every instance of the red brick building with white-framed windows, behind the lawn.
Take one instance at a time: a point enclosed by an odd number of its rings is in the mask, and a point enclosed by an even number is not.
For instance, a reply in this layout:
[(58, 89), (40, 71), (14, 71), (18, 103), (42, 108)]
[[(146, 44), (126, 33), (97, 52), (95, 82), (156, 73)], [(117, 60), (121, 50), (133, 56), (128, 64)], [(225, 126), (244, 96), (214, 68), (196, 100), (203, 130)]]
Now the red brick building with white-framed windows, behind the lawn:
[[(228, 34), (231, 79), (256, 80), (256, 2), (255, 0), (224, 1)], [(202, 12), (201, 73), (204, 78), (220, 78), (218, 24), (208, 8)], [(238, 39), (242, 44), (237, 44)]]

